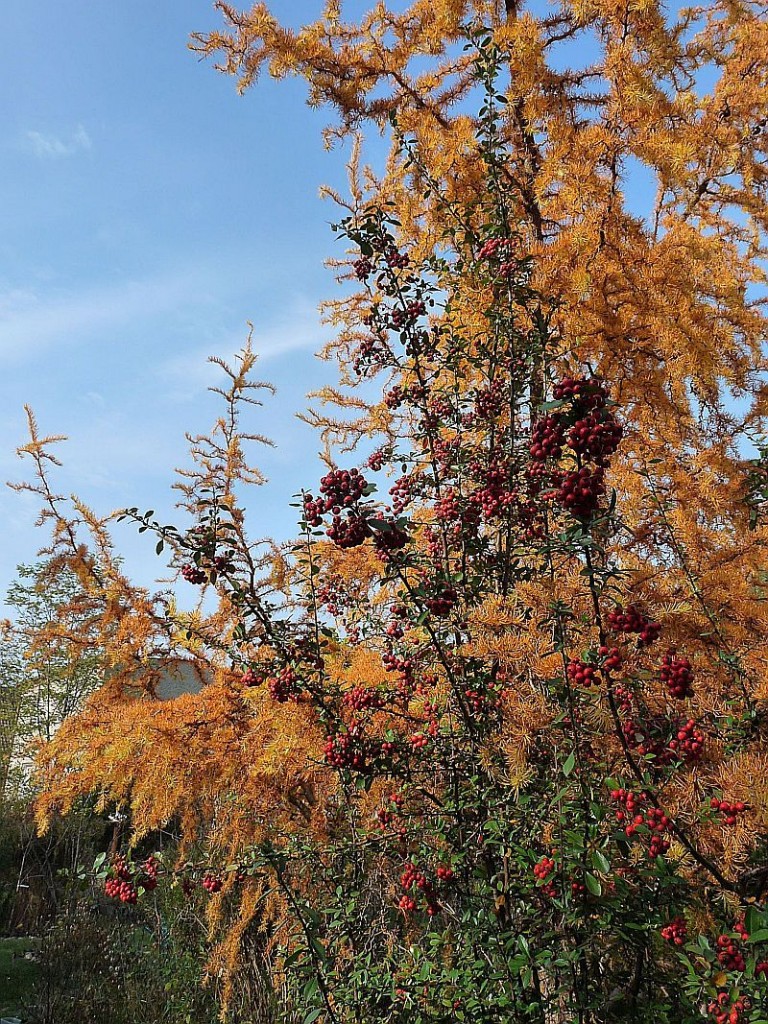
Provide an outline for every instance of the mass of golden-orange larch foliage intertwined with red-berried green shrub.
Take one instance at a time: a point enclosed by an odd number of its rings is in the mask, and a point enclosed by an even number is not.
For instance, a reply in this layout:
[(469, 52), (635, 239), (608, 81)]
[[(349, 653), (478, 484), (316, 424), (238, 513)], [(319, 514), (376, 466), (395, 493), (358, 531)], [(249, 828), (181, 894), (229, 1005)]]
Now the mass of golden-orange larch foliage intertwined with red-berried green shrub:
[[(41, 823), (93, 794), (134, 842), (173, 823), (177, 858), (116, 862), (111, 894), (183, 886), (209, 971), (236, 986), (257, 936), (307, 1024), (763, 1020), (765, 22), (433, 0), (291, 33), (221, 6), (198, 45), (243, 85), (304, 75), (342, 133), (391, 118), (338, 225), (326, 471), (295, 546), (251, 539), (264, 385), (250, 344), (221, 364), (189, 527), (124, 514), (215, 593), (182, 613), (51, 492), (32, 421), (53, 569), (110, 664), (44, 753)], [(204, 685), (160, 702), (179, 657)]]

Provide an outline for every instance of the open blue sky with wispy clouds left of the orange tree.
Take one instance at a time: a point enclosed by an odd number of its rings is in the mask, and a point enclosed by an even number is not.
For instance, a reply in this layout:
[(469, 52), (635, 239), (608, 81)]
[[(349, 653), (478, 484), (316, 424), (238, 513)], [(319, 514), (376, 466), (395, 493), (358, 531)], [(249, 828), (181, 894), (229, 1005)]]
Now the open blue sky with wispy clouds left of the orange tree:
[[(291, 20), (318, 0), (292, 0)], [(250, 425), (278, 446), (257, 459), (254, 530), (289, 538), (290, 496), (314, 482), (316, 439), (294, 414), (334, 380), (313, 355), (316, 307), (333, 294), (324, 259), (345, 189), (328, 112), (295, 81), (244, 97), (187, 49), (217, 26), (210, 0), (28, 0), (0, 5), (0, 474), (18, 480), (23, 406), (59, 446), (61, 493), (97, 511), (171, 515), (184, 431), (216, 414), (210, 354), (231, 355), (254, 324), (260, 376), (279, 389)], [(33, 499), (2, 488), (0, 593), (45, 541)], [(166, 521), (170, 521), (166, 519)], [(135, 527), (116, 527), (137, 582), (164, 564)]]

